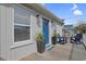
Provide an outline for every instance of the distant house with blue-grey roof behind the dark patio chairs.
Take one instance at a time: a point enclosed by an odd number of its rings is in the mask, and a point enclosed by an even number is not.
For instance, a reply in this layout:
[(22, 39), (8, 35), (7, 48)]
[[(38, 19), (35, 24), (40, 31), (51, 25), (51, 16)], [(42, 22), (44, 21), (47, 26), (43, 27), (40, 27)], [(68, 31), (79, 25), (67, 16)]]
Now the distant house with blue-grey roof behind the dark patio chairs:
[(64, 25), (62, 31), (64, 35), (72, 36), (74, 34), (73, 29), (73, 25)]

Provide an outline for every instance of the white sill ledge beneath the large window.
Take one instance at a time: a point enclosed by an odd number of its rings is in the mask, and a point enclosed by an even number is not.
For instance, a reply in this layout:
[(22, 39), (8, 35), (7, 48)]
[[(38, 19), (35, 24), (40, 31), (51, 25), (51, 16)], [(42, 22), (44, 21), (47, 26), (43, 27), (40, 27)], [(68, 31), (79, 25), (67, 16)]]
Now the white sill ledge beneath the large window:
[(13, 46), (11, 47), (11, 49), (24, 47), (24, 46), (32, 44), (32, 43), (34, 43), (34, 42), (32, 42), (30, 40), (19, 41), (19, 42), (13, 43)]

